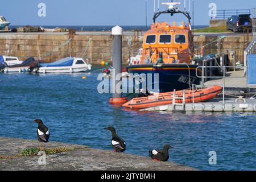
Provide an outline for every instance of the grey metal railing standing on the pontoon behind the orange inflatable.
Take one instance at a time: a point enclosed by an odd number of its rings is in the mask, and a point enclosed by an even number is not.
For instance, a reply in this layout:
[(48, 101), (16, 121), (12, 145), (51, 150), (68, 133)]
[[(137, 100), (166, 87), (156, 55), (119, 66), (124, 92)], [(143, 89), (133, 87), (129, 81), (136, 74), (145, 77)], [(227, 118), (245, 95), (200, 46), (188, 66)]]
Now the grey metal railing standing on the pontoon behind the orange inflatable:
[[(205, 76), (205, 75), (199, 75), (198, 74), (199, 70), (206, 69), (206, 68), (210, 68), (210, 69), (212, 69), (212, 68), (221, 68), (223, 75), (222, 76)], [(198, 78), (202, 79), (202, 83), (201, 83), (201, 87), (202, 88), (204, 86), (204, 79), (205, 78), (222, 78), (223, 79), (223, 84), (222, 84), (223, 85), (222, 86), (222, 104), (223, 105), (225, 105), (225, 88), (226, 88), (226, 73), (227, 73), (226, 69), (228, 69), (228, 68), (233, 68), (234, 72), (235, 72), (236, 69), (238, 69), (238, 68), (245, 68), (245, 67), (236, 67), (236, 66), (228, 66), (228, 67), (227, 66), (222, 66), (222, 67), (209, 66), (208, 67), (208, 66), (200, 66), (200, 67), (196, 68), (196, 76)], [(247, 86), (247, 84), (248, 84), (248, 76), (247, 76), (247, 74), (246, 74), (246, 76), (243, 76), (243, 77), (229, 77), (229, 78), (245, 78), (245, 77), (246, 77), (246, 87), (248, 87)], [(195, 85), (192, 86), (193, 92), (194, 92), (194, 87), (195, 87)], [(194, 104), (194, 98), (193, 98), (193, 104)]]

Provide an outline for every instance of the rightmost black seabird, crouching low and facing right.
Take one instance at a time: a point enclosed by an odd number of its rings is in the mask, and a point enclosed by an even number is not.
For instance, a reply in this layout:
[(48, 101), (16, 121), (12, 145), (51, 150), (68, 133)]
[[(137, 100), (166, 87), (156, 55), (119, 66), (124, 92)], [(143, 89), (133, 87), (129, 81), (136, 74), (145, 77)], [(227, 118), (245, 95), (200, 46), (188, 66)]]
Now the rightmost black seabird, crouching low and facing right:
[(163, 150), (151, 150), (149, 151), (149, 155), (152, 159), (158, 160), (158, 161), (168, 161), (169, 159), (169, 152), (168, 150), (170, 148), (173, 148), (172, 146), (166, 145), (164, 146)]

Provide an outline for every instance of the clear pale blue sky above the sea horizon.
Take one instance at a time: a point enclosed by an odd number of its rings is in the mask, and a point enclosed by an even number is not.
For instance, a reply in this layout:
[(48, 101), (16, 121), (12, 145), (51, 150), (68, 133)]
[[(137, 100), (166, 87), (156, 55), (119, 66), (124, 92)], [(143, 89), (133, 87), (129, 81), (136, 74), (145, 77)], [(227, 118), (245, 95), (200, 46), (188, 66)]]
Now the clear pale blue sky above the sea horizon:
[[(146, 24), (146, 0), (8, 0), (1, 1), (0, 15), (5, 16), (12, 25), (34, 26), (144, 26)], [(184, 10), (184, 1), (189, 9), (189, 0), (174, 0), (181, 2), (180, 10)], [(191, 0), (191, 14), (192, 14)], [(251, 9), (256, 7), (256, 0), (194, 0), (195, 25), (209, 24), (209, 4), (216, 3), (217, 10)], [(156, 0), (158, 2), (158, 0)], [(160, 0), (170, 2), (170, 0)], [(46, 17), (38, 16), (38, 5), (46, 5)], [(157, 5), (156, 5), (157, 9)], [(160, 5), (160, 10), (167, 6)], [(152, 23), (154, 15), (154, 0), (147, 0), (147, 23)], [(183, 17), (175, 17), (181, 22)], [(163, 15), (159, 21), (174, 19)]]

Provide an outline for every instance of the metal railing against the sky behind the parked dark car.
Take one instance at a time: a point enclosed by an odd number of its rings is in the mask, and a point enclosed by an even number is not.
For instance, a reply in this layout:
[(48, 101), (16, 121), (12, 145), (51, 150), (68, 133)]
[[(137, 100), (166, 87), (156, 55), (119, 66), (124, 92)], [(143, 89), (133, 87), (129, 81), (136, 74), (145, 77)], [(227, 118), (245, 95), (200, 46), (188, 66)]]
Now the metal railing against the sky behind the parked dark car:
[[(241, 9), (241, 10), (215, 10), (212, 11), (211, 19), (228, 19), (233, 15), (240, 14), (251, 14), (250, 9)], [(214, 16), (216, 15), (216, 16)]]

